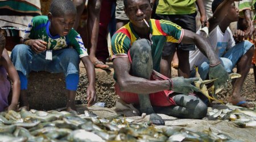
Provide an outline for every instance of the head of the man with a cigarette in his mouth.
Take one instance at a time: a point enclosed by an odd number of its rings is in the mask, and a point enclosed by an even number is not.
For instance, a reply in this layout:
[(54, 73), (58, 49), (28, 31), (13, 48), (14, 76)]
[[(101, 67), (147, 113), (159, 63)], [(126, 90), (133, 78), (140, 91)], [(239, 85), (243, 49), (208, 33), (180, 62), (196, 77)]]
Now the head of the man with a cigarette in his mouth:
[(134, 26), (142, 28), (147, 27), (143, 19), (147, 22), (152, 14), (152, 3), (150, 0), (124, 0), (125, 14)]

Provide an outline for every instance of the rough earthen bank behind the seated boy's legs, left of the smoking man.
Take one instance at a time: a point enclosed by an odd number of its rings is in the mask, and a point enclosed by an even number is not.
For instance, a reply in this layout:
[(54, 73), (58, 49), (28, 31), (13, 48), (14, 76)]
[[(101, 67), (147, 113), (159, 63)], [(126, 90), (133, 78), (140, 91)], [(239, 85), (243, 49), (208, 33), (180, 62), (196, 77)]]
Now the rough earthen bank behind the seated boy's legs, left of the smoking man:
[[(77, 89), (76, 103), (86, 104), (88, 78), (85, 68), (80, 66), (80, 81)], [(96, 69), (97, 102), (104, 102), (105, 107), (113, 107), (118, 96), (114, 90), (113, 69)], [(27, 98), (30, 108), (36, 110), (53, 110), (65, 107), (68, 91), (65, 89), (63, 73), (31, 72), (28, 77)]]

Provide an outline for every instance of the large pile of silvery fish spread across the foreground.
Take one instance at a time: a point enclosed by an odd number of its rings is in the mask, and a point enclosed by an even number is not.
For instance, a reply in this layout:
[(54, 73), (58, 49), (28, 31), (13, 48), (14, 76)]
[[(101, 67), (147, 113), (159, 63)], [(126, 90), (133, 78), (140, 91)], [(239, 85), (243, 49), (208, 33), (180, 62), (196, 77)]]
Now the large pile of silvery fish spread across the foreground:
[(98, 118), (90, 111), (21, 110), (0, 113), (0, 141), (225, 141), (224, 133), (192, 132), (178, 127), (155, 128), (125, 116)]

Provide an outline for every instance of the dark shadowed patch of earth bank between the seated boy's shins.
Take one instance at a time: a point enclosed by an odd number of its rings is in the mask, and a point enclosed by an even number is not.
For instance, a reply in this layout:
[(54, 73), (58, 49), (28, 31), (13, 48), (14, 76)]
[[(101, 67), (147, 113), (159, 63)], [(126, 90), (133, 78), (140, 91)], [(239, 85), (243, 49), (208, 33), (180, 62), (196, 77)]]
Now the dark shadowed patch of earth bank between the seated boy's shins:
[(63, 73), (31, 72), (28, 76), (27, 98), (32, 109), (65, 107), (67, 93)]

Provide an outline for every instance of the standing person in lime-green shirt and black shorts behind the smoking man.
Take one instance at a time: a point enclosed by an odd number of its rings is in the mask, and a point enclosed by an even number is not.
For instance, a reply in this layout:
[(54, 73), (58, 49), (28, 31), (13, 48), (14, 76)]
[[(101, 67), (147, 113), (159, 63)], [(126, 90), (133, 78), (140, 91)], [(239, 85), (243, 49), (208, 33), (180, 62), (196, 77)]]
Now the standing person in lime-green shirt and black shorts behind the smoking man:
[[(207, 25), (208, 21), (202, 0), (167, 0), (167, 2), (159, 0), (158, 6), (156, 7), (155, 19), (170, 20), (186, 30), (196, 32), (196, 4), (197, 7), (199, 7), (201, 24), (204, 27)], [(189, 51), (194, 50), (195, 44), (167, 42), (163, 48), (160, 73), (167, 77), (171, 76), (171, 61), (174, 57), (174, 53), (177, 52), (177, 58), (179, 59), (178, 75), (189, 78)]]

